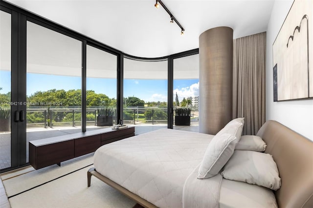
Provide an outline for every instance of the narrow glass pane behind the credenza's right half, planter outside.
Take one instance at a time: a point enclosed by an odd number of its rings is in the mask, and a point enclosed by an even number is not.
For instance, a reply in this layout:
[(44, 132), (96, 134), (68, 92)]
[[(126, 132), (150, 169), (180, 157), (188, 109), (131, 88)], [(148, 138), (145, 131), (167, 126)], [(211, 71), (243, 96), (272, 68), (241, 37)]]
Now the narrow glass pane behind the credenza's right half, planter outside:
[(116, 124), (117, 56), (87, 45), (86, 130)]

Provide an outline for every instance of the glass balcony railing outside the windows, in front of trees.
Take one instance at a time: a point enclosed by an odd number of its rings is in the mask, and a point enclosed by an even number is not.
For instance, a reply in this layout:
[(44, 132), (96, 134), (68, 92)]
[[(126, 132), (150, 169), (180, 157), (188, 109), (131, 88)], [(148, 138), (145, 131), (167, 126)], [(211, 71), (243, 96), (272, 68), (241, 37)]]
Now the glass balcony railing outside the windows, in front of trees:
[[(86, 109), (87, 125), (97, 125), (97, 112), (101, 106)], [(116, 108), (113, 110), (113, 124), (116, 124)], [(81, 108), (77, 106), (27, 108), (27, 127), (80, 126)], [(167, 124), (167, 108), (163, 107), (126, 107), (123, 109), (124, 124)], [(198, 108), (192, 109), (191, 121), (198, 120)]]

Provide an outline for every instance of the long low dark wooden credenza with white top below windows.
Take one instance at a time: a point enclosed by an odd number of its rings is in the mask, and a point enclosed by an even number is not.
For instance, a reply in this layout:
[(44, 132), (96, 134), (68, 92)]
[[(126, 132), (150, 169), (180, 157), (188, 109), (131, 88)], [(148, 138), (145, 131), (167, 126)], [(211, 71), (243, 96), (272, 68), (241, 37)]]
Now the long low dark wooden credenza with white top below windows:
[(61, 165), (75, 157), (94, 152), (100, 146), (134, 136), (135, 127), (99, 129), (29, 142), (29, 164), (40, 169)]

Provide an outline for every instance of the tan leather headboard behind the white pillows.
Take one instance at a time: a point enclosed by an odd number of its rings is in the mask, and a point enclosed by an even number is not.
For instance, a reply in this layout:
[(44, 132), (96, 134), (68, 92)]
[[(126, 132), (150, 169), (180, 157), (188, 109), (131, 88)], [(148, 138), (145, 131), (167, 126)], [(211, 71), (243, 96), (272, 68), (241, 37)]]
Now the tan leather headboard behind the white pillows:
[(267, 121), (257, 136), (268, 145), (282, 186), (275, 191), (279, 208), (313, 208), (313, 142), (276, 122)]

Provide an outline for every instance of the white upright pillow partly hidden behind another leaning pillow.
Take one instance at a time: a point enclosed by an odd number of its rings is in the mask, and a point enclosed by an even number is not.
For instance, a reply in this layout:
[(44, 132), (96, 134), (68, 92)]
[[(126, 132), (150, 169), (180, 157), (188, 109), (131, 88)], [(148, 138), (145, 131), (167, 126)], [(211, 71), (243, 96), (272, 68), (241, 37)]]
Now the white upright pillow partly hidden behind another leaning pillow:
[(230, 135), (235, 136), (237, 138), (237, 142), (239, 142), (244, 124), (245, 118), (233, 119), (230, 122), (228, 122), (228, 124), (226, 124), (224, 128), (222, 128), (216, 135), (229, 133)]

